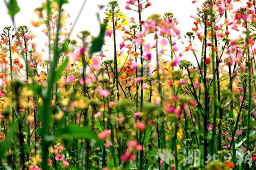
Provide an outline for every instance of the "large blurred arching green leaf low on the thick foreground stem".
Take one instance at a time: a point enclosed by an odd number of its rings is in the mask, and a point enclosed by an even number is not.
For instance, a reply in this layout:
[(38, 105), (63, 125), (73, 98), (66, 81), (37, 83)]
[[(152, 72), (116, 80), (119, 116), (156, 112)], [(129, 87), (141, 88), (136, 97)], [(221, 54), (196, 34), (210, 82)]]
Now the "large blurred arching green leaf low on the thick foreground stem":
[(93, 139), (99, 144), (103, 145), (102, 140), (98, 138), (92, 130), (88, 127), (78, 127), (76, 125), (70, 125), (68, 127), (61, 128), (60, 130), (57, 130), (53, 136), (47, 136), (46, 140), (54, 141), (59, 138), (74, 138), (74, 137), (80, 137), (80, 138), (87, 138), (87, 139)]

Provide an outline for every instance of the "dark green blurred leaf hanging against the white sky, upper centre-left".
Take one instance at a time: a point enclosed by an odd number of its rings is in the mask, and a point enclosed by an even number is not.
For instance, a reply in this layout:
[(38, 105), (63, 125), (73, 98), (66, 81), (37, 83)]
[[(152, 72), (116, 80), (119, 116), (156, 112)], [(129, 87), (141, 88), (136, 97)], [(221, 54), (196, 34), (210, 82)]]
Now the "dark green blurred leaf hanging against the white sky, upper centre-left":
[(101, 47), (104, 42), (106, 31), (106, 24), (100, 24), (100, 35), (92, 40), (92, 46), (90, 48), (91, 54), (101, 51)]

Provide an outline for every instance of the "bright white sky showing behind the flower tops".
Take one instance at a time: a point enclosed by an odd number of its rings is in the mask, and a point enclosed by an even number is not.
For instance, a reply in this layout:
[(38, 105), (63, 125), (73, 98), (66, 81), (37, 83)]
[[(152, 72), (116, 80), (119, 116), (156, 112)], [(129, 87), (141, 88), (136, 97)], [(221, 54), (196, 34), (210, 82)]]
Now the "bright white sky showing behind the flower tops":
[[(15, 16), (16, 26), (27, 25), (31, 32), (35, 34), (37, 37), (33, 42), (37, 43), (38, 51), (42, 51), (42, 48), (45, 47), (44, 44), (47, 41), (47, 37), (44, 33), (42, 33), (42, 28), (34, 28), (30, 22), (31, 19), (36, 20), (37, 16), (34, 14), (34, 9), (41, 6), (41, 3), (44, 0), (17, 0), (18, 6), (20, 7), (20, 12)], [(135, 20), (138, 21), (138, 14), (131, 10), (126, 10), (124, 6), (126, 5), (127, 0), (118, 0), (120, 9), (124, 14), (126, 14), (127, 18), (134, 16)], [(191, 28), (194, 27), (194, 20), (190, 18), (191, 15), (196, 15), (197, 6), (200, 6), (204, 0), (198, 0), (196, 4), (192, 4), (192, 0), (150, 0), (152, 6), (146, 8), (142, 13), (142, 20), (145, 20), (151, 14), (164, 14), (165, 12), (172, 12), (174, 16), (179, 20), (180, 24), (178, 28), (181, 31), (181, 34), (184, 35), (186, 32), (191, 31)], [(64, 9), (68, 13), (70, 13), (71, 18), (69, 18), (68, 22), (74, 22), (84, 0), (69, 0), (69, 4), (65, 4), (63, 6)], [(99, 32), (99, 24), (96, 18), (96, 12), (98, 12), (98, 6), (106, 5), (109, 0), (87, 0), (85, 7), (80, 15), (80, 18), (72, 32), (71, 38), (76, 38), (78, 32), (82, 30), (88, 30), (92, 35), (97, 36)], [(104, 12), (105, 10), (103, 10)], [(101, 18), (104, 18), (104, 14), (101, 14)], [(12, 26), (12, 22), (10, 17), (8, 16), (7, 8), (4, 4), (4, 0), (0, 0), (0, 33), (5, 26)], [(120, 37), (121, 38), (121, 37)], [(107, 45), (112, 45), (113, 42), (110, 39), (106, 39)], [(118, 44), (121, 43), (118, 41)], [(186, 41), (184, 41), (186, 42)], [(154, 42), (151, 42), (153, 44)], [(186, 42), (187, 45), (187, 42)], [(185, 45), (181, 47), (184, 49)], [(112, 51), (111, 46), (105, 46), (104, 49), (109, 48)], [(119, 49), (119, 48), (118, 48)], [(106, 55), (111, 55), (112, 53), (108, 52)], [(191, 56), (191, 55), (190, 55)], [(185, 57), (185, 56), (184, 56)], [(193, 61), (191, 59), (194, 57), (189, 57), (188, 60)]]

